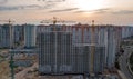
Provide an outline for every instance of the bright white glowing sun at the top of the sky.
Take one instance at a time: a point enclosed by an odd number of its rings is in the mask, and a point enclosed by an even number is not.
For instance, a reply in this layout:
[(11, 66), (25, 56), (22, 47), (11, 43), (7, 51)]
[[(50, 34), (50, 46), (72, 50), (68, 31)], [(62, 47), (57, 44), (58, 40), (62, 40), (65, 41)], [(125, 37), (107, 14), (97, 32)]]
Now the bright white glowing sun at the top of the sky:
[(81, 10), (95, 10), (103, 7), (103, 0), (75, 0), (76, 7)]

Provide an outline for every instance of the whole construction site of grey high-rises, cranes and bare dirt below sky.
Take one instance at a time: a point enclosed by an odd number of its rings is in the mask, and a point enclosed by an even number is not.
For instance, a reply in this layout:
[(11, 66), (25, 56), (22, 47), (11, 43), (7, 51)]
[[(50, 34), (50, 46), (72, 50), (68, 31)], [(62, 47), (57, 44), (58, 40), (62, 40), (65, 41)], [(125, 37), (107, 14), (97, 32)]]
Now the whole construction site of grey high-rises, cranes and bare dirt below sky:
[[(13, 27), (8, 22), (10, 26), (0, 27), (0, 48), (8, 48), (10, 53), (6, 57), (11, 71), (9, 78), (121, 79), (115, 55), (122, 39), (133, 34), (133, 28), (96, 26), (94, 20), (91, 24), (57, 24), (55, 18), (49, 26)], [(44, 22), (48, 21), (41, 21)]]

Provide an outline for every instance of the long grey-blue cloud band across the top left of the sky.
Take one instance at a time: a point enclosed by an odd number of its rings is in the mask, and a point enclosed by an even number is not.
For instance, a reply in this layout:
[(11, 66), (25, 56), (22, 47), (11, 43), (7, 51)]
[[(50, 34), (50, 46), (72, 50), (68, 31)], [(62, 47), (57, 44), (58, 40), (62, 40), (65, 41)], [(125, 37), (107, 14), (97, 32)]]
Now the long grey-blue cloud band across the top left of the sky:
[[(0, 0), (0, 3), (7, 2), (8, 0)], [(30, 9), (51, 9), (54, 8), (57, 4), (59, 4), (60, 2), (64, 2), (65, 0), (37, 0), (38, 1), (42, 1), (42, 4), (23, 4), (23, 6), (0, 6), (0, 11), (10, 11), (10, 10), (30, 10)]]

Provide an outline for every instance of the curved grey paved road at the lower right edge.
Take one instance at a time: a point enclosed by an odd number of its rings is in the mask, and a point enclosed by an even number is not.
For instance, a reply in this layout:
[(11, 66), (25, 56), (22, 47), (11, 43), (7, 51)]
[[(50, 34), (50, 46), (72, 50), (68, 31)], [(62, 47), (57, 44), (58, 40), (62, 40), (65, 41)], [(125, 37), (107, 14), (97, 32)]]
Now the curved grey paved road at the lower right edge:
[(127, 59), (132, 52), (133, 48), (125, 48), (124, 53), (120, 57), (120, 69), (126, 76), (127, 79), (133, 79), (133, 75), (130, 72), (127, 68)]

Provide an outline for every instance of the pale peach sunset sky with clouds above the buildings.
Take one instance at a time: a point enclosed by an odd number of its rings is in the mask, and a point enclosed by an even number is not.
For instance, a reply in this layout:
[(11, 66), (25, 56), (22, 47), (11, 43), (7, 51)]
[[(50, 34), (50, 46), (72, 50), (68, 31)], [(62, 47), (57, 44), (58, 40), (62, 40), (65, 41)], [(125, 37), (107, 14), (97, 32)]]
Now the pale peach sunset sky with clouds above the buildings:
[[(133, 0), (0, 0), (0, 20), (40, 23), (42, 20), (96, 24), (133, 24)], [(3, 21), (0, 21), (2, 23)]]

